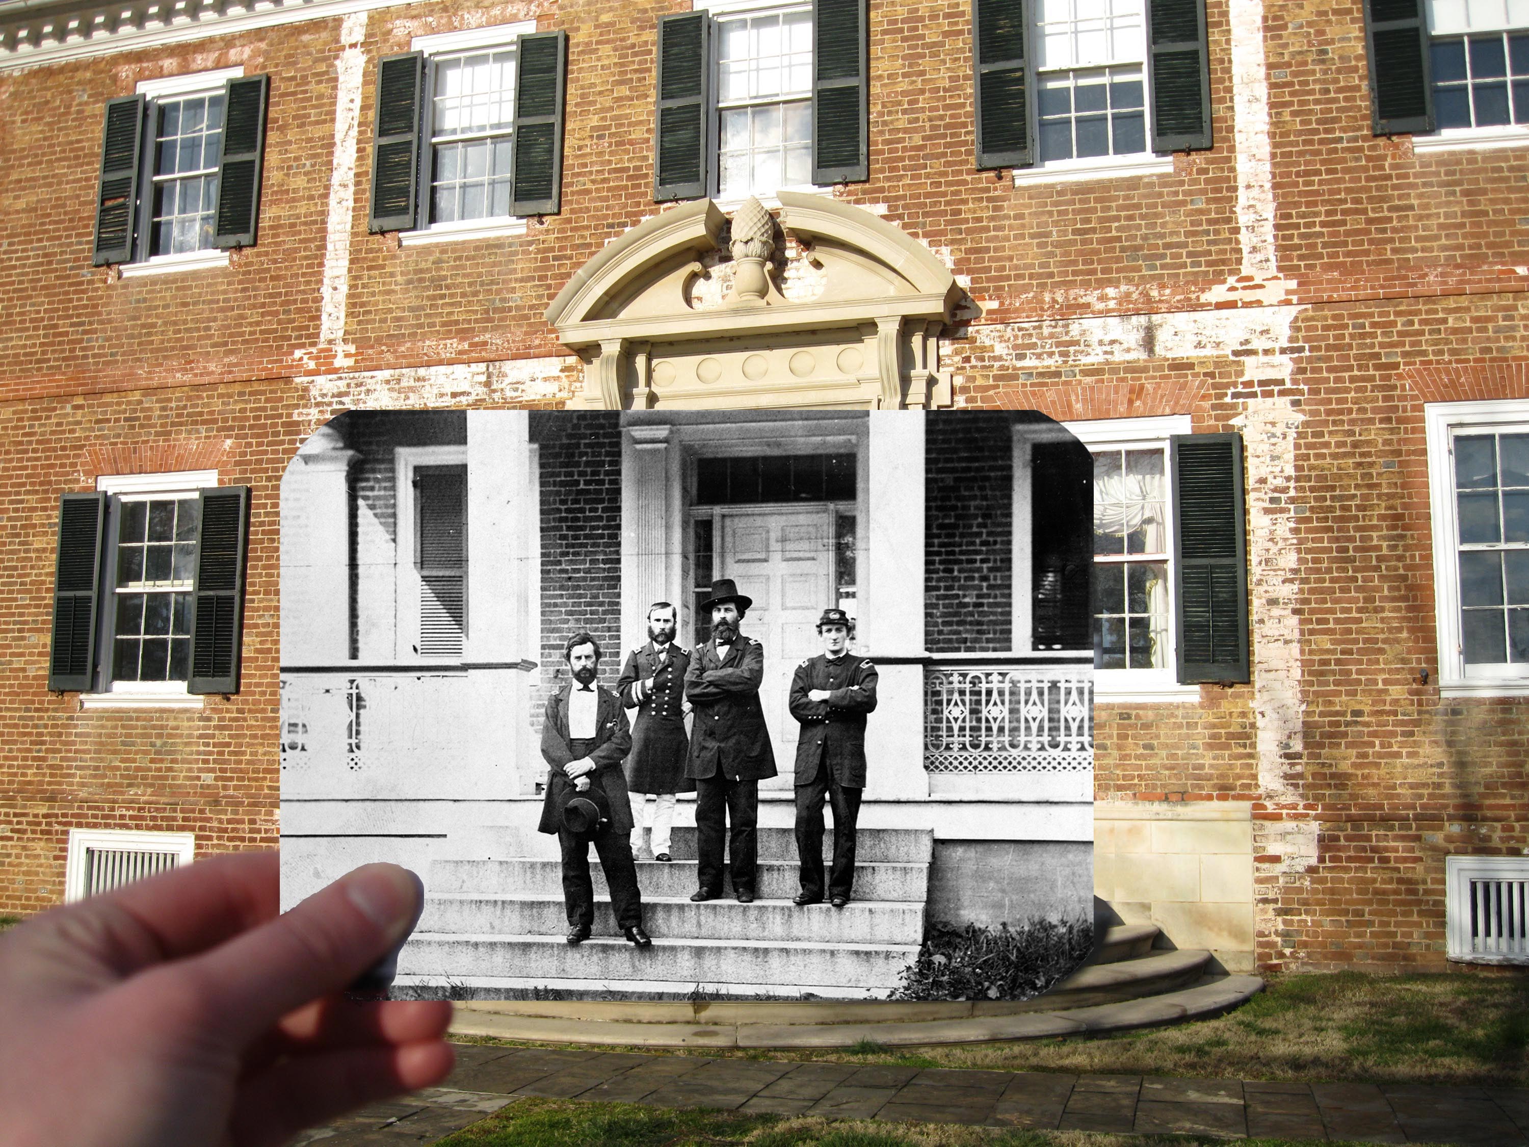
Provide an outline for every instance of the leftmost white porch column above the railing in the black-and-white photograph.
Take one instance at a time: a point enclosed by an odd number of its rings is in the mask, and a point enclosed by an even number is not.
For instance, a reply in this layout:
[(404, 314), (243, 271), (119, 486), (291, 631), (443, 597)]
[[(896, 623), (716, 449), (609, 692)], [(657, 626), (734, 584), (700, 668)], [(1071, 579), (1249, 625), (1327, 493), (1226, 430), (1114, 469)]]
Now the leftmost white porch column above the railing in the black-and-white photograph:
[(350, 659), (350, 463), (320, 427), (281, 477), (281, 664)]

